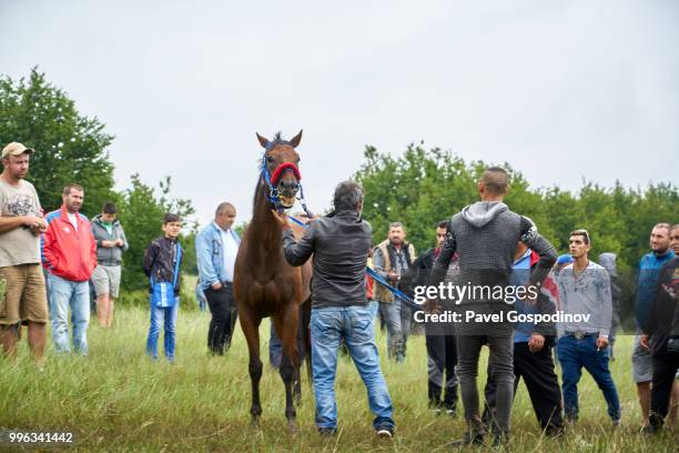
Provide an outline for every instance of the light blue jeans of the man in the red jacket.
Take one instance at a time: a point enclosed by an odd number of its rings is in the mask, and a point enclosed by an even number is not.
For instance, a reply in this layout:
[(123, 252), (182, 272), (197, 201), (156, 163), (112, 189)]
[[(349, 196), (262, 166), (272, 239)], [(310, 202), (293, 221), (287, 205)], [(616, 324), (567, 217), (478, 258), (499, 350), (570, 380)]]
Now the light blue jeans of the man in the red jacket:
[(69, 308), (73, 328), (73, 349), (88, 355), (88, 325), (90, 323), (90, 286), (88, 282), (72, 282), (48, 274), (52, 340), (57, 353), (71, 352), (69, 342)]

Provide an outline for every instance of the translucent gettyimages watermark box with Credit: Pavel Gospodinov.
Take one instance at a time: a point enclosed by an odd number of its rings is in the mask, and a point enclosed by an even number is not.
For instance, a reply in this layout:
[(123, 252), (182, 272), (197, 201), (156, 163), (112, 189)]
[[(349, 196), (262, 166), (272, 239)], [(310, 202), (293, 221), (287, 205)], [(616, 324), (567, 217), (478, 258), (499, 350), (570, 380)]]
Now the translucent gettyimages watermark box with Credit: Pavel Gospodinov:
[(411, 304), (415, 334), (465, 335), (472, 329), (474, 334), (485, 334), (537, 325), (554, 334), (608, 331), (614, 338), (636, 335), (643, 321), (639, 313), (653, 315), (649, 309), (639, 310), (650, 306), (653, 296), (640, 291), (639, 281), (657, 280), (659, 273), (596, 268), (575, 279), (570, 269), (553, 270), (535, 286), (529, 269), (507, 273), (504, 269), (452, 266), (442, 283), (428, 285), (427, 269), (413, 272), (398, 288), (417, 305)]

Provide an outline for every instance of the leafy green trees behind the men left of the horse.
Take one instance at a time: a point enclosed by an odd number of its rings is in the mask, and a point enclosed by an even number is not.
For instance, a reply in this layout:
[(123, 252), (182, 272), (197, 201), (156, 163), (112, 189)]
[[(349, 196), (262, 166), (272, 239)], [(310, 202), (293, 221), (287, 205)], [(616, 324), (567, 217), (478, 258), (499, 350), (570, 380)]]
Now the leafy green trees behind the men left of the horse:
[[(31, 157), (29, 180), (45, 213), (61, 207), (61, 191), (69, 182), (84, 188), (81, 211), (88, 218), (99, 214), (107, 201), (116, 204), (130, 243), (121, 285), (128, 291), (139, 290), (148, 285), (142, 258), (149, 243), (162, 234), (163, 214), (175, 212), (190, 219), (194, 209), (190, 200), (172, 198), (170, 177), (153, 187), (134, 174), (128, 189), (116, 191), (115, 167), (108, 152), (113, 139), (103, 122), (81, 114), (68, 93), (52, 85), (37, 68), (19, 80), (0, 77), (0, 144), (18, 141), (38, 150)], [(197, 225), (189, 222), (186, 226), (180, 238), (184, 269), (195, 273), (193, 241)]]

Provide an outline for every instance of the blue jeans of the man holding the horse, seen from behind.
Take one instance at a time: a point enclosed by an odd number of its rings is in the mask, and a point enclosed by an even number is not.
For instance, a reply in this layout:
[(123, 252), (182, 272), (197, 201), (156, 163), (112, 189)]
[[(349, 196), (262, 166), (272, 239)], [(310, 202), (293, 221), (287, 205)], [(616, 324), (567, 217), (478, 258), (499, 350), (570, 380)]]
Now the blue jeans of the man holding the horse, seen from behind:
[(337, 349), (342, 339), (367, 389), (368, 404), (375, 414), (373, 426), (394, 427), (392, 397), (379, 369), (373, 322), (374, 319), (365, 306), (312, 310), (312, 372), (316, 396), (316, 426), (320, 429), (337, 427), (335, 374)]

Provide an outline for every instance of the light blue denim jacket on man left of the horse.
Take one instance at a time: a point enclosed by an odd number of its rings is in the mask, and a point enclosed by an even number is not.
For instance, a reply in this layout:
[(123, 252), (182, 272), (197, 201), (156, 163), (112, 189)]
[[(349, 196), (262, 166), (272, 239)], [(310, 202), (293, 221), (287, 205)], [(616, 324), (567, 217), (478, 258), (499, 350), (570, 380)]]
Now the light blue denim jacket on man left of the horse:
[[(232, 234), (236, 244), (241, 243), (239, 234), (229, 229), (226, 234)], [(214, 222), (210, 222), (196, 236), (195, 236), (195, 256), (199, 266), (199, 279), (204, 290), (212, 286), (213, 283), (223, 283), (226, 281), (226, 273), (224, 272), (224, 246), (222, 244), (222, 235), (220, 229)]]

